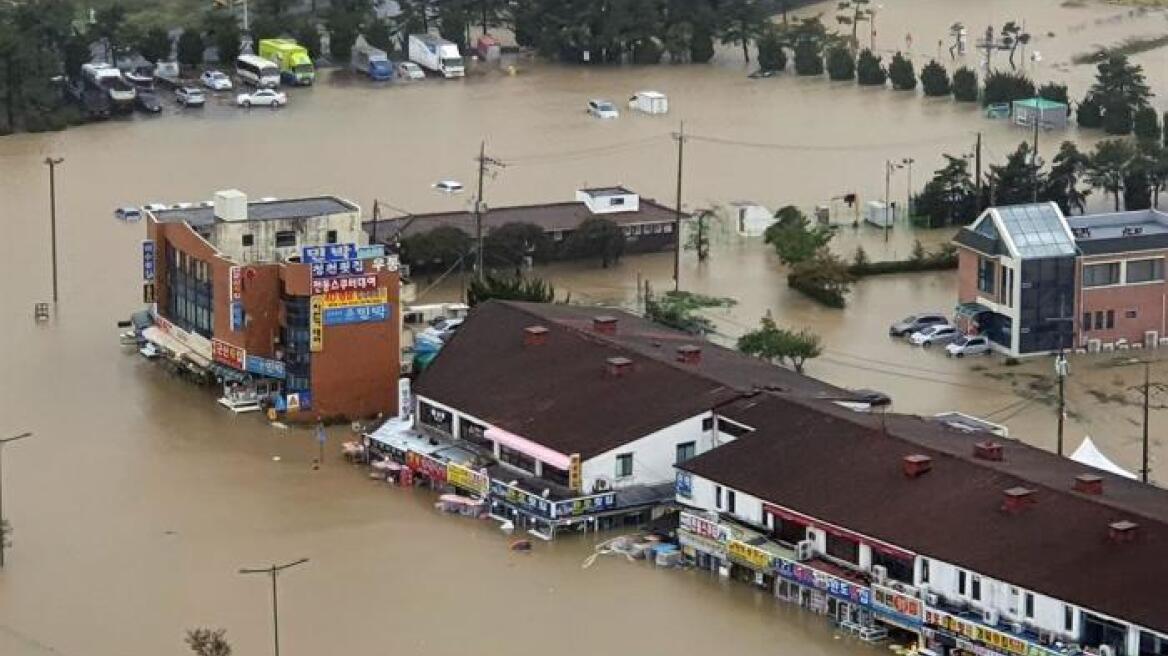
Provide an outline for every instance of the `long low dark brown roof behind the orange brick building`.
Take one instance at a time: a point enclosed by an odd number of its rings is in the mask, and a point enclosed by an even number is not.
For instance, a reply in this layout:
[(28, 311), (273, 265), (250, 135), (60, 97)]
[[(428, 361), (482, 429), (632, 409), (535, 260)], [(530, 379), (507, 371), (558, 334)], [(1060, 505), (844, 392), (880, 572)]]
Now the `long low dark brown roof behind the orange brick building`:
[[(640, 198), (638, 211), (592, 214), (588, 205), (582, 202), (544, 203), (537, 205), (514, 205), (509, 208), (491, 208), (482, 215), (482, 230), (491, 232), (495, 228), (507, 223), (534, 223), (544, 231), (575, 230), (585, 218), (599, 216), (607, 218), (618, 225), (637, 223), (668, 223), (677, 218), (673, 209), (667, 208), (649, 198)], [(410, 218), (390, 218), (380, 221), (377, 224), (377, 236), (384, 238), (394, 235), (405, 225)], [(363, 224), (366, 232), (373, 233), (373, 222)], [(413, 216), (412, 223), (402, 230), (401, 237), (408, 237), (419, 232), (426, 232), (434, 228), (453, 225), (467, 232), (474, 230), (474, 212), (452, 211), (419, 214)]]

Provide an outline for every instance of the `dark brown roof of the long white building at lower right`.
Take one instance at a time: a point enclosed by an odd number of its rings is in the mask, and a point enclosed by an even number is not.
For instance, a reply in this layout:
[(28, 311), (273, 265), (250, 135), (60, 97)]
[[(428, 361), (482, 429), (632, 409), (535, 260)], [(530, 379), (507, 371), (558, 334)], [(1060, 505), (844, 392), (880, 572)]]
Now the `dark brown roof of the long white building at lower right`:
[[(759, 395), (719, 413), (756, 432), (681, 468), (870, 537), (1084, 608), (1168, 630), (1168, 493), (1112, 474), (1100, 496), (1072, 490), (1091, 470), (1006, 440), (1002, 461), (976, 460), (985, 433), (918, 417), (854, 413), (834, 404)], [(932, 458), (904, 475), (906, 455)], [(1009, 514), (1006, 490), (1035, 489)], [(1131, 544), (1111, 523), (1140, 524)]]

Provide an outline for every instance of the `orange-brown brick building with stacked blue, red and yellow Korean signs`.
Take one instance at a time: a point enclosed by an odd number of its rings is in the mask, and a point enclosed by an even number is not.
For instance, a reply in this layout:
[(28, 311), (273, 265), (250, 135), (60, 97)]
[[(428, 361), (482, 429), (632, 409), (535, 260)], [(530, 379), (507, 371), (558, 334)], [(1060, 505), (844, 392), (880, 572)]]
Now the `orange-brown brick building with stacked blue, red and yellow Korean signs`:
[(147, 212), (144, 336), (293, 419), (394, 414), (401, 357), (397, 259), (369, 246), (360, 208), (332, 196)]

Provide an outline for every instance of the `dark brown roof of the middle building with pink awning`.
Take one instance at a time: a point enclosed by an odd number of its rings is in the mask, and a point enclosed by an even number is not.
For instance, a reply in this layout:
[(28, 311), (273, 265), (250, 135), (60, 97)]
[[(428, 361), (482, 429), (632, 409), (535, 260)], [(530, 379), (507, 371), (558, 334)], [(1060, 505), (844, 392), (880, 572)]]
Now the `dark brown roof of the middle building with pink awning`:
[[(617, 319), (613, 335), (592, 317)], [(548, 328), (545, 342), (523, 346), (524, 329)], [(847, 392), (786, 369), (702, 342), (701, 362), (677, 362), (676, 347), (694, 343), (609, 308), (488, 301), (418, 379), (418, 393), (561, 453), (588, 459), (695, 417), (756, 385), (793, 393)], [(632, 371), (607, 374), (610, 357)]]

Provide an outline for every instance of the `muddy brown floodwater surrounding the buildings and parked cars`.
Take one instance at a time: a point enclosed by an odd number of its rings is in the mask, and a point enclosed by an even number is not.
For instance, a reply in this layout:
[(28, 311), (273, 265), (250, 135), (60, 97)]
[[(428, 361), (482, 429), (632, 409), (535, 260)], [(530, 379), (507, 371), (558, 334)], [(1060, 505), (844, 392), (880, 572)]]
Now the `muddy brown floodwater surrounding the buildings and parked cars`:
[[(954, 20), (976, 33), (973, 26), (1024, 19), (1043, 53), (1040, 77), (1070, 79), (1075, 95), (1091, 71), (1061, 70), (1059, 62), (1090, 43), (1155, 33), (1164, 21), (1159, 13), (1128, 16), (1114, 6), (1065, 8), (1057, 0), (887, 5), (880, 48), (911, 33), (919, 50), (944, 39)], [(1154, 88), (1168, 86), (1166, 53), (1136, 57)], [(267, 581), (237, 570), (301, 557), (311, 561), (280, 578), (281, 647), (291, 655), (864, 649), (746, 586), (621, 560), (583, 570), (589, 540), (512, 553), (493, 525), (438, 516), (426, 493), (387, 489), (345, 465), (335, 456), (343, 431), (333, 432), (325, 466), (313, 472), (308, 433), (231, 417), (209, 393), (116, 344), (114, 322), (139, 301), (142, 237), (140, 225), (111, 218), (123, 204), (195, 201), (237, 187), (253, 196), (328, 193), (364, 207), (381, 198), (412, 211), (450, 209), (466, 197), (438, 196), (430, 184), (468, 183), (482, 139), (508, 163), (487, 182), (489, 204), (558, 201), (577, 187), (609, 183), (672, 202), (669, 133), (684, 120), (687, 134), (707, 138), (686, 145), (687, 207), (753, 200), (809, 209), (844, 191), (880, 197), (887, 159), (913, 158), (919, 182), (939, 165), (938, 153), (968, 152), (976, 131), (990, 161), (1024, 138), (947, 100), (793, 77), (748, 81), (734, 49), (719, 57), (694, 68), (527, 64), (514, 77), (390, 89), (334, 76), (293, 90), (280, 112), (213, 104), (0, 140), (7, 231), (0, 435), (35, 432), (5, 453), (15, 546), (0, 574), (0, 654), (181, 652), (182, 631), (196, 626), (224, 627), (236, 652), (263, 654), (271, 636)], [(584, 116), (588, 98), (620, 100), (638, 89), (666, 91), (669, 117)], [(61, 303), (55, 321), (39, 326), (33, 303), (50, 298), (41, 163), (50, 155), (65, 159), (57, 172)], [(892, 180), (895, 198), (903, 197), (906, 173)], [(904, 257), (915, 238), (936, 245), (950, 233), (897, 228), (885, 245), (876, 230), (843, 226), (835, 247), (849, 253), (862, 244), (872, 258)], [(639, 275), (668, 288), (672, 257), (627, 258), (609, 270), (555, 265), (541, 274), (573, 301), (632, 307)], [(709, 261), (684, 256), (681, 277), (686, 288), (738, 300), (712, 313), (718, 339), (772, 310), (781, 323), (823, 337), (827, 351), (811, 363), (813, 375), (885, 390), (901, 411), (988, 414), (1015, 437), (1054, 446), (1049, 361), (1013, 368), (989, 358), (946, 361), (884, 336), (899, 315), (951, 307), (951, 273), (870, 279), (847, 309), (830, 310), (790, 293), (763, 245), (721, 233)], [(425, 299), (457, 296), (450, 282)], [(1090, 433), (1136, 468), (1138, 409), (1125, 389), (1139, 371), (1111, 364), (1073, 362), (1068, 445)], [(1166, 374), (1153, 369), (1156, 378)], [(1153, 451), (1162, 461), (1159, 427), (1153, 412)]]

